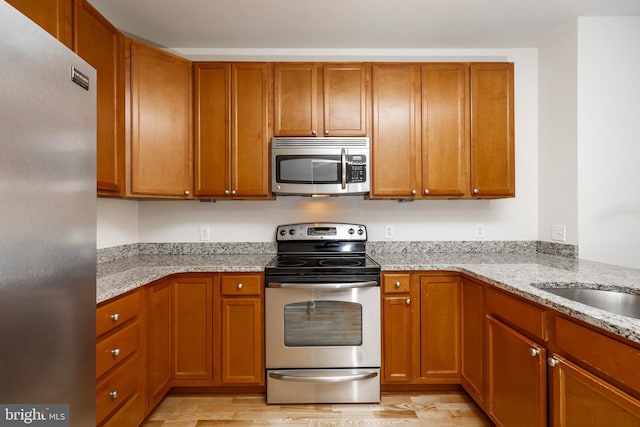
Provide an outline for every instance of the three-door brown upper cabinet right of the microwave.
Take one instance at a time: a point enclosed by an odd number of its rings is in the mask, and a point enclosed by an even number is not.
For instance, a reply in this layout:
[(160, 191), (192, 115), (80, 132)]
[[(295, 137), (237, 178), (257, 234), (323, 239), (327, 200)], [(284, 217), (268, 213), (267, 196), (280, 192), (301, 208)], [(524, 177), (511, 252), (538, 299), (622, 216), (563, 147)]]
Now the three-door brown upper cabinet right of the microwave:
[(372, 198), (515, 194), (513, 64), (374, 64), (372, 93)]

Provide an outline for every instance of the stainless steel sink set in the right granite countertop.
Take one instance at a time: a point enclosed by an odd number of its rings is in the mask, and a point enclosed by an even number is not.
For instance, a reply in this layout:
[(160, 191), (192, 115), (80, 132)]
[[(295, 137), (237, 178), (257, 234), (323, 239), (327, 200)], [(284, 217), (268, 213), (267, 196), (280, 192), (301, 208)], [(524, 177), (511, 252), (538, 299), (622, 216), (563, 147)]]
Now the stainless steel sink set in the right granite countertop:
[(640, 319), (640, 295), (591, 283), (534, 283), (533, 286), (609, 313)]

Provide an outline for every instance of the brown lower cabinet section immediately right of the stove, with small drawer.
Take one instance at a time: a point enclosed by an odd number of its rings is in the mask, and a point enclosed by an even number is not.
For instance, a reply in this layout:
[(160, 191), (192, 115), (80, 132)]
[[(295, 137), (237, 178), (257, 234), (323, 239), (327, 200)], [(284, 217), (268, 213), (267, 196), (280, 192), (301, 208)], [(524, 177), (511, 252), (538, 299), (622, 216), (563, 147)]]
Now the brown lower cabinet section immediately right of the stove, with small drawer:
[(460, 278), (385, 273), (382, 383), (460, 383)]

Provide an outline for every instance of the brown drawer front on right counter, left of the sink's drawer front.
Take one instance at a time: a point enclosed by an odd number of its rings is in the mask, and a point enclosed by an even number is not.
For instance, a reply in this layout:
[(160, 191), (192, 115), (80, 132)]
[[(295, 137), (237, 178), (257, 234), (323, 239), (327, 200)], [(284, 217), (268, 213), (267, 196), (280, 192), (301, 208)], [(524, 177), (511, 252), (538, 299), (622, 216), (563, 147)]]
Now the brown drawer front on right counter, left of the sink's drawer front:
[(547, 341), (547, 312), (533, 304), (488, 288), (485, 296), (487, 312), (530, 336)]

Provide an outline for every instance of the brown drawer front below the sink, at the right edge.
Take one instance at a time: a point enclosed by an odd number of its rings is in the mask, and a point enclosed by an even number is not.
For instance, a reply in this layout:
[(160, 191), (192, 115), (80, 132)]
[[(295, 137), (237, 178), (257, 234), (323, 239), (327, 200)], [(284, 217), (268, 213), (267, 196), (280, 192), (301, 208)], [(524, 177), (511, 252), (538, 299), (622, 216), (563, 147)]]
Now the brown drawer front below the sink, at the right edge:
[(563, 316), (554, 319), (552, 337), (558, 352), (640, 393), (640, 349)]

